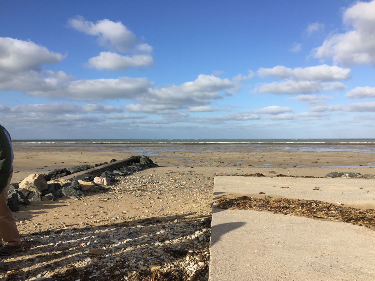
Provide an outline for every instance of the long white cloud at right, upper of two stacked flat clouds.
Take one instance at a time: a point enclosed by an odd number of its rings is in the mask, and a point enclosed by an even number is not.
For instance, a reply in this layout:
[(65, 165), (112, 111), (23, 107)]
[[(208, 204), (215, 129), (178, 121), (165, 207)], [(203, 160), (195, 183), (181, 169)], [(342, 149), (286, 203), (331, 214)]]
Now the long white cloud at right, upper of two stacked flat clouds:
[(261, 77), (275, 76), (281, 79), (291, 78), (296, 81), (338, 81), (350, 78), (349, 68), (328, 66), (327, 64), (304, 68), (296, 67), (295, 69), (281, 65), (273, 68), (261, 67), (257, 73)]

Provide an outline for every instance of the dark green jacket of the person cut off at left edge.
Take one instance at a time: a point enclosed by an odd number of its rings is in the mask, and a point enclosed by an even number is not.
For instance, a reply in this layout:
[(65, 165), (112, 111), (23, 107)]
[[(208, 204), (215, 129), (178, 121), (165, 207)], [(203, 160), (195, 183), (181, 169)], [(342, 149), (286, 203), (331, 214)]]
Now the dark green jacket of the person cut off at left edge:
[(8, 139), (0, 126), (0, 193), (8, 184), (10, 167), (12, 166), (12, 152)]

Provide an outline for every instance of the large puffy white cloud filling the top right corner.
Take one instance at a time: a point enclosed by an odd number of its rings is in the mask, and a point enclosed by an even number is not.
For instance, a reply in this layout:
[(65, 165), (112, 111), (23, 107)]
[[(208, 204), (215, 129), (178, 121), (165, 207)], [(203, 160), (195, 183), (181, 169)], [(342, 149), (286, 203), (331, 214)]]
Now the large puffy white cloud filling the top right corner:
[(343, 22), (348, 31), (327, 37), (312, 51), (314, 57), (332, 58), (334, 63), (346, 66), (375, 66), (375, 0), (356, 2), (344, 11)]

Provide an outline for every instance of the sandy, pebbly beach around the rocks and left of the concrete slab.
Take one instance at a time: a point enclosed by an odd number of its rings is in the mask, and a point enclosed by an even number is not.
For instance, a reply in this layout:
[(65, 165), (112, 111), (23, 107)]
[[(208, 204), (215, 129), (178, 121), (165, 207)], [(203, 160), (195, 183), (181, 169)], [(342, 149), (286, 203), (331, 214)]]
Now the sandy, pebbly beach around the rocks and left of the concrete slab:
[[(155, 280), (207, 280), (216, 173), (375, 174), (374, 145), (14, 145), (13, 149), (12, 182), (31, 173), (133, 155), (147, 155), (160, 167), (118, 178), (117, 184), (81, 200), (63, 197), (21, 207), (13, 214), (23, 251), (1, 261), (3, 280), (148, 280), (151, 273), (159, 278)], [(104, 254), (90, 254), (90, 248), (104, 249)]]

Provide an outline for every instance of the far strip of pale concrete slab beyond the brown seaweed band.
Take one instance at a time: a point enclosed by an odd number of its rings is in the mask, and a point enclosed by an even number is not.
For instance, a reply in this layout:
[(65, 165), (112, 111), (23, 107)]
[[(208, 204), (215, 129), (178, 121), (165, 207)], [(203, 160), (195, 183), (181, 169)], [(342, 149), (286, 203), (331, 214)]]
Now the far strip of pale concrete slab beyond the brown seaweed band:
[[(282, 188), (283, 187), (283, 188)], [(314, 188), (319, 187), (319, 190)], [(375, 208), (375, 180), (354, 178), (276, 178), (216, 176), (214, 196), (260, 196), (340, 202), (356, 208)]]

